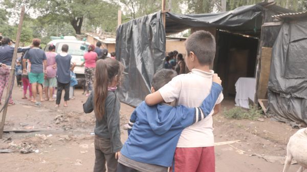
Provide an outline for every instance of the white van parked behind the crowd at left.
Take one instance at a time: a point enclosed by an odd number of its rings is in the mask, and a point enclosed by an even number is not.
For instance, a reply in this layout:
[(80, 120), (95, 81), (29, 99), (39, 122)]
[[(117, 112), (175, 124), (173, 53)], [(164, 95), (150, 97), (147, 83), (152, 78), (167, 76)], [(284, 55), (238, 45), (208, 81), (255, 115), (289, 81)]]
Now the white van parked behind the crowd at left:
[(83, 55), (87, 52), (87, 47), (89, 47), (90, 43), (85, 41), (79, 40), (72, 40), (72, 39), (56, 39), (50, 41), (46, 47), (45, 52), (48, 51), (49, 46), (53, 44), (55, 45), (55, 52), (57, 54), (61, 53), (62, 45), (68, 44), (68, 54), (72, 55), (72, 63), (76, 63), (76, 67), (74, 72), (76, 73), (76, 78), (84, 78), (84, 66), (81, 66), (83, 63)]

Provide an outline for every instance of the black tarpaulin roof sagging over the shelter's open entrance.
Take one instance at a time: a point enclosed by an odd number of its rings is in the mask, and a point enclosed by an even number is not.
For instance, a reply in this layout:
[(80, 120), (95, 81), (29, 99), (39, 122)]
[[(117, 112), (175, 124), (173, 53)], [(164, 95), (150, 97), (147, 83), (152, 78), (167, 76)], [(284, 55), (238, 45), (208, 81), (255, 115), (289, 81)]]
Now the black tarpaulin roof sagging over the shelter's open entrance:
[(166, 13), (166, 33), (178, 33), (193, 27), (216, 27), (233, 31), (254, 32), (261, 29), (264, 8), (258, 4), (238, 7), (232, 11), (210, 14)]

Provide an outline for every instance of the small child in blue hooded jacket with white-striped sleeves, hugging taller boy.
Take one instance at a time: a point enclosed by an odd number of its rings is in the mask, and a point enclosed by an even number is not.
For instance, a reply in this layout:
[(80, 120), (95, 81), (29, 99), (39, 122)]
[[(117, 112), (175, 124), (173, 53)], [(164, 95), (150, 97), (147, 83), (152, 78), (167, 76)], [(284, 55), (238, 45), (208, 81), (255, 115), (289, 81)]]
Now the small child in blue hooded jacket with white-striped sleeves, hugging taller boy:
[[(176, 75), (170, 69), (158, 71), (153, 76), (151, 91), (159, 90)], [(211, 92), (198, 108), (172, 107), (163, 102), (147, 106), (142, 102), (131, 114), (129, 137), (121, 150), (117, 172), (168, 171), (181, 132), (211, 112), (223, 90), (221, 82), (214, 75)]]

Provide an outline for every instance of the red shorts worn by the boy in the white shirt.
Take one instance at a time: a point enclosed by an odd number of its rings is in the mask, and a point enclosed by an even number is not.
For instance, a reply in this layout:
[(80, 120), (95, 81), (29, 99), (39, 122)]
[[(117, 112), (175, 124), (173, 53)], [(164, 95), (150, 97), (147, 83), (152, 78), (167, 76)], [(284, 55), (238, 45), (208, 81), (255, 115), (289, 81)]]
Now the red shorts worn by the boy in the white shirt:
[(176, 148), (170, 171), (215, 172), (214, 146), (202, 148)]

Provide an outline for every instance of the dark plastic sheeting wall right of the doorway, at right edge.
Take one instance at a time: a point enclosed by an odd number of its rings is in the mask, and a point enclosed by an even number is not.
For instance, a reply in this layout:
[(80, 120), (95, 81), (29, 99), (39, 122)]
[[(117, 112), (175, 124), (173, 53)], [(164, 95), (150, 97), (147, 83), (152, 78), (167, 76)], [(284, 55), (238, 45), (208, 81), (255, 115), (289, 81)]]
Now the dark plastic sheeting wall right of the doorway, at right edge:
[(272, 50), (269, 115), (307, 124), (307, 20), (284, 22)]

